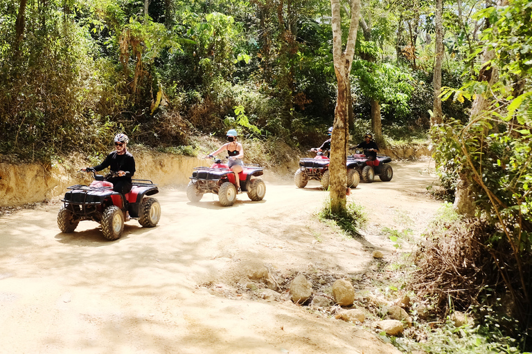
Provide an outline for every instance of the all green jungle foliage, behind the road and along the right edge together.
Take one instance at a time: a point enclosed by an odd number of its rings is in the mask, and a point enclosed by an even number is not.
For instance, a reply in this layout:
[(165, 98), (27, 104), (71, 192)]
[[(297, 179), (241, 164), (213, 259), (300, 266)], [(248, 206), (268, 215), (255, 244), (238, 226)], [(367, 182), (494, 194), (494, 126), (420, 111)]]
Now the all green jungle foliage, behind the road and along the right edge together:
[[(118, 131), (172, 149), (230, 128), (319, 146), (337, 95), (330, 11), (325, 0), (0, 0), (0, 154), (90, 155), (107, 151)], [(496, 277), (483, 280), (496, 279), (490, 291), (510, 293), (529, 319), (532, 3), (463, 0), (445, 3), (443, 15), (444, 122), (432, 127), (438, 173), (451, 201), (459, 176), (468, 178), (478, 230), (489, 230), (471, 244), (494, 260)], [(371, 127), (372, 100), (384, 136), (408, 140), (430, 124), (434, 4), (366, 0), (362, 19), (353, 140)], [(495, 59), (481, 63), (486, 49)], [(499, 80), (489, 85), (493, 68)], [(480, 96), (488, 109), (470, 116)]]

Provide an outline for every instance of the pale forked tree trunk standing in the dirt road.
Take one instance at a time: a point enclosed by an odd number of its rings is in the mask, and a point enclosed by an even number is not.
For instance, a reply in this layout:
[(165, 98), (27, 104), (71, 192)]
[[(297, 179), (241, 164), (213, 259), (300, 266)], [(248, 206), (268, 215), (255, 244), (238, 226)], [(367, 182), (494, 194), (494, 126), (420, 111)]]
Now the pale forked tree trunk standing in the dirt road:
[(342, 51), (342, 19), (339, 0), (330, 0), (332, 10), (332, 56), (334, 58), (338, 95), (335, 122), (330, 145), (330, 209), (340, 214), (346, 209), (346, 147), (348, 136), (349, 74), (355, 55), (355, 42), (360, 19), (360, 0), (351, 1), (351, 26), (346, 50)]

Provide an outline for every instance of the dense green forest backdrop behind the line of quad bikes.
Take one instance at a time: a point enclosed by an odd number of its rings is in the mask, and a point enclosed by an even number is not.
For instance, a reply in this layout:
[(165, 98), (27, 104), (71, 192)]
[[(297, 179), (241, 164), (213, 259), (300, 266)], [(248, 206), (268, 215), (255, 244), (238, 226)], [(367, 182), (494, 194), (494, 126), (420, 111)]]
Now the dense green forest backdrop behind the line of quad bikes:
[[(378, 97), (385, 130), (426, 129), (432, 46), (396, 57), (407, 53), (396, 52), (407, 46), (406, 10), (389, 5), (364, 6), (374, 35), (357, 44), (353, 113), (369, 120)], [(328, 1), (0, 0), (0, 8), (0, 153), (105, 151), (117, 131), (147, 146), (189, 145), (191, 135), (230, 127), (296, 147), (320, 142), (332, 124)], [(459, 78), (461, 67), (448, 64)]]

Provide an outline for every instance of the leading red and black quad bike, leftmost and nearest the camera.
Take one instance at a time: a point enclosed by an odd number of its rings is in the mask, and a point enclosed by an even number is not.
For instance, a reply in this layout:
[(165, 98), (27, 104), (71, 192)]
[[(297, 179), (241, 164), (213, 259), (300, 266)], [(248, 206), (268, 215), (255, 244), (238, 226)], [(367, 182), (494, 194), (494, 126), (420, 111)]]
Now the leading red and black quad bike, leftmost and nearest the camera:
[[(161, 205), (152, 194), (159, 193), (151, 180), (133, 180), (131, 191), (125, 196), (113, 191), (113, 184), (88, 168), (94, 181), (90, 185), (73, 185), (64, 194), (64, 203), (57, 214), (57, 226), (61, 232), (76, 230), (82, 220), (92, 220), (102, 225), (105, 239), (120, 239), (124, 230), (126, 212), (137, 218), (143, 227), (154, 227), (161, 218)], [(112, 174), (106, 178), (112, 177)]]

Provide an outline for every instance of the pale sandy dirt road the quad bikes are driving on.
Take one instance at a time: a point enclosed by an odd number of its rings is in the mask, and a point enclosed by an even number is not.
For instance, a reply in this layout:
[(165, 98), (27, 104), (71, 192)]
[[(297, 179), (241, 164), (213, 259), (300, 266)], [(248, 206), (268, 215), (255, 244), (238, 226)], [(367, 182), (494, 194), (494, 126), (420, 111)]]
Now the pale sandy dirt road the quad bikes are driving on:
[(382, 228), (419, 234), (440, 205), (425, 196), (434, 182), (428, 167), (393, 163), (391, 182), (353, 190), (348, 200), (370, 218), (361, 239), (317, 221), (326, 198), (319, 183), (298, 189), (268, 173), (263, 201), (241, 194), (233, 207), (211, 194), (193, 204), (183, 187), (162, 187), (159, 225), (130, 221), (114, 242), (91, 221), (60, 233), (58, 201), (2, 216), (0, 353), (398, 353), (362, 326), (296, 306), (287, 294), (258, 299), (238, 282), (249, 262), (278, 280), (366, 274), (373, 250), (392, 262)]

